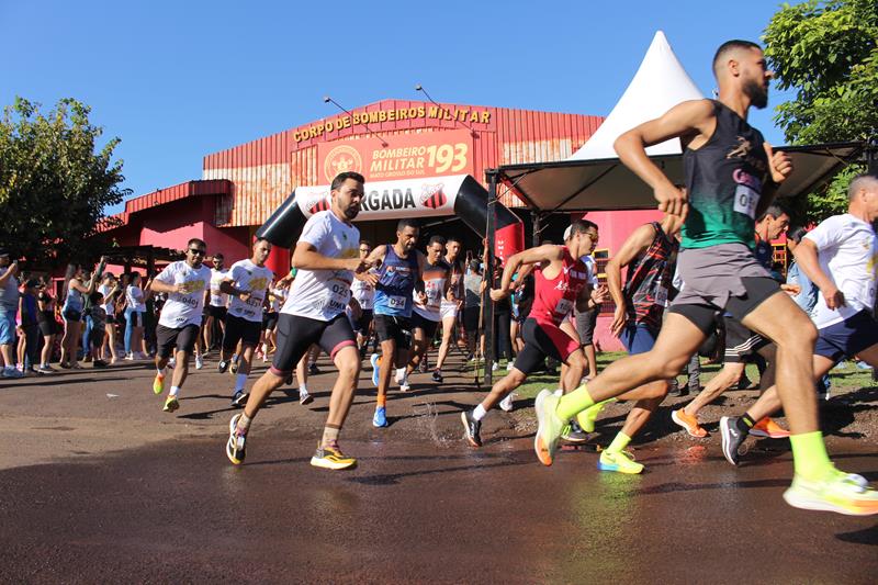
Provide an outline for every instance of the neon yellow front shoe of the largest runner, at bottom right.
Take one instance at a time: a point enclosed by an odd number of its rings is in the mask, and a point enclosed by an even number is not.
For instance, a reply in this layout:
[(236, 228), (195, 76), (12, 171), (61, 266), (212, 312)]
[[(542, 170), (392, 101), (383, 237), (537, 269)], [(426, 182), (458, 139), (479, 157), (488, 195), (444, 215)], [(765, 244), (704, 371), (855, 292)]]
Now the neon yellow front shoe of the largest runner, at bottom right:
[(835, 511), (846, 516), (878, 514), (878, 492), (868, 486), (866, 479), (835, 469), (819, 481), (793, 476), (792, 485), (784, 492), (784, 500), (793, 508), (806, 510)]

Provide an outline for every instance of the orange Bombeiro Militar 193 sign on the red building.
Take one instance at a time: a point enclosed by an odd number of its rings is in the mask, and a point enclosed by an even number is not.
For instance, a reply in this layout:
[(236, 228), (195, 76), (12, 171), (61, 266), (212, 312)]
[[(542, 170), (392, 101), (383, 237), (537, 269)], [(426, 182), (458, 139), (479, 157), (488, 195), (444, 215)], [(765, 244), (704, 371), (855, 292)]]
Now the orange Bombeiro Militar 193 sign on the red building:
[(469, 131), (424, 132), (336, 140), (317, 145), (320, 182), (354, 171), (367, 181), (419, 179), (473, 173), (473, 138)]

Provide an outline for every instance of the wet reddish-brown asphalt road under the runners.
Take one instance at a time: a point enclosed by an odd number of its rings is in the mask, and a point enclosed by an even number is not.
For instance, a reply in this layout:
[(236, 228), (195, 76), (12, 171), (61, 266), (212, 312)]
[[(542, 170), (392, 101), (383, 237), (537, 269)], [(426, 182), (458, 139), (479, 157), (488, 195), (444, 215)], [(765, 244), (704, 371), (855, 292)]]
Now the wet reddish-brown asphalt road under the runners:
[[(149, 375), (130, 372), (136, 380)], [(0, 582), (878, 578), (878, 518), (787, 506), (780, 495), (792, 466), (789, 452), (773, 447), (777, 441), (754, 449), (739, 469), (722, 458), (718, 440), (643, 445), (635, 449), (648, 468), (641, 476), (598, 472), (593, 448), (565, 450), (547, 469), (525, 432), (481, 450), (460, 441), (455, 405), (477, 396), (461, 391), (408, 397), (416, 404), (405, 409), (392, 401), (392, 412), (412, 414), (385, 431), (351, 425), (342, 447), (359, 466), (328, 472), (308, 464), (325, 398), (305, 413), (281, 394), (255, 426), (246, 464), (235, 468), (223, 451), (225, 391), (211, 398), (218, 374), (212, 375), (204, 391), (192, 384), (172, 423), (160, 413), (153, 421), (151, 396), (137, 394), (126, 406), (124, 387), (101, 407), (72, 412), (83, 393), (94, 401), (112, 393), (109, 381), (78, 391), (68, 384), (69, 396), (64, 385), (34, 385), (26, 397), (23, 387), (0, 392), (0, 424), (18, 429), (16, 445), (44, 437), (43, 450), (55, 451), (33, 464), (24, 464), (26, 453), (0, 452)], [(53, 387), (58, 404), (41, 410), (50, 418), (41, 426), (27, 408)], [(66, 416), (65, 401), (74, 401)], [(358, 397), (351, 417), (365, 420), (371, 406), (369, 396)], [(105, 442), (90, 434), (95, 420), (119, 423)], [(487, 435), (504, 432), (516, 436), (504, 426)], [(47, 447), (58, 435), (91, 447)], [(133, 446), (109, 449), (113, 435), (131, 436)], [(844, 441), (833, 459), (875, 482), (874, 447)]]

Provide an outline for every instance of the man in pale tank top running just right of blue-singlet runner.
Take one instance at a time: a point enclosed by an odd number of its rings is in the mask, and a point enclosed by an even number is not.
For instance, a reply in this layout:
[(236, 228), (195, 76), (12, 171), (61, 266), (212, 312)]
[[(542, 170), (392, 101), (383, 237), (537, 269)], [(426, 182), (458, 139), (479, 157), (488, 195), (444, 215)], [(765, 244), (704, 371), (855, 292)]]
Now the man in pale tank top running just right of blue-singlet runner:
[[(416, 289), (414, 292), (415, 305), (412, 310), (412, 328), (414, 331), (414, 344), (408, 365), (403, 372), (397, 372), (399, 390), (408, 392), (412, 387), (408, 383), (408, 374), (415, 371), (420, 360), (427, 355), (436, 329), (441, 320), (442, 299), (451, 300), (449, 288), (451, 285), (451, 267), (442, 259), (442, 250), (446, 247), (446, 238), (432, 236), (427, 244), (427, 261), (420, 272), (424, 281), (423, 290)], [(434, 373), (432, 379), (441, 382), (441, 374), (437, 378)]]

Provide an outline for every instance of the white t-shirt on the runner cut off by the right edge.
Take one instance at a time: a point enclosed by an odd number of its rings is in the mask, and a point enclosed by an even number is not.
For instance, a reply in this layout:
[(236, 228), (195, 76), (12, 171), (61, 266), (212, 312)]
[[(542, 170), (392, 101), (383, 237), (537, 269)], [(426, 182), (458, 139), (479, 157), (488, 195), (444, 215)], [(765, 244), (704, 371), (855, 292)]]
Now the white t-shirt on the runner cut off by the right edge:
[(830, 310), (821, 291), (814, 306), (818, 329), (840, 323), (875, 304), (875, 275), (878, 238), (871, 226), (849, 213), (833, 215), (806, 234), (818, 249), (820, 268), (840, 291), (845, 306)]

